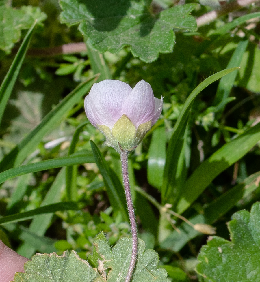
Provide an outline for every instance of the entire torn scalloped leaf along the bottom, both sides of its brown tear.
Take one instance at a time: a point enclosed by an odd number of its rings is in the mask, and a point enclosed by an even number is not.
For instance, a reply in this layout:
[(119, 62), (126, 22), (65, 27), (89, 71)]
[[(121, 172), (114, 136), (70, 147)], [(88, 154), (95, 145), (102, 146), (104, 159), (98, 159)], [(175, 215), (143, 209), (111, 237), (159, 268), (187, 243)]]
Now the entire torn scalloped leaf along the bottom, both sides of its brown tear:
[[(131, 239), (124, 237), (110, 248), (103, 233), (94, 240), (93, 254), (88, 256), (93, 268), (75, 251), (36, 254), (24, 265), (25, 273), (17, 272), (13, 282), (124, 282), (132, 253)], [(153, 250), (145, 250), (139, 239), (138, 260), (131, 282), (170, 282), (164, 268), (157, 268), (159, 257)]]

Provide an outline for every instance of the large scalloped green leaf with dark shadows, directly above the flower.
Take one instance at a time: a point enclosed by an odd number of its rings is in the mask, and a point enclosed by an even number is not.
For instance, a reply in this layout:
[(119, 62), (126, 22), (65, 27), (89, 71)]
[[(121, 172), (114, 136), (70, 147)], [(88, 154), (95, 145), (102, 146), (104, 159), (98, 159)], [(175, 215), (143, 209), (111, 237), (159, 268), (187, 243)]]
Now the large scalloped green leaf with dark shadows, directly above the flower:
[(195, 31), (196, 20), (190, 12), (196, 4), (177, 5), (157, 14), (148, 11), (145, 0), (60, 0), (62, 23), (75, 25), (86, 44), (103, 53), (117, 53), (130, 46), (135, 57), (144, 62), (170, 53), (174, 31)]

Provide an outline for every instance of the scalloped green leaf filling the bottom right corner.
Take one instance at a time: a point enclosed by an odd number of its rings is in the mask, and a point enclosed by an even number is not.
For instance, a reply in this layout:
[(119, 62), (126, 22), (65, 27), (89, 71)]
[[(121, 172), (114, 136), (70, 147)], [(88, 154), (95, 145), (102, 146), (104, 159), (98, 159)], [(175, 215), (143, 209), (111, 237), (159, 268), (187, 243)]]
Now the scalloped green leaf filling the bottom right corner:
[(200, 249), (196, 271), (211, 282), (260, 281), (260, 203), (228, 223), (231, 241), (213, 236)]

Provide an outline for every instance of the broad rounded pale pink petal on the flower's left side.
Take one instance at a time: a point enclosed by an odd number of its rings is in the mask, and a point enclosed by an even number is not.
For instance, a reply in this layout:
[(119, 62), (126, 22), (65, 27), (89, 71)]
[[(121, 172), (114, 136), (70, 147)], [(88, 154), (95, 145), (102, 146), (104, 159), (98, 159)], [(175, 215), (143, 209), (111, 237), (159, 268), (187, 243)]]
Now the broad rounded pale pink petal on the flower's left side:
[(84, 101), (90, 122), (94, 126), (106, 125), (112, 129), (122, 116), (122, 104), (131, 91), (131, 86), (119, 80), (106, 79), (95, 83)]

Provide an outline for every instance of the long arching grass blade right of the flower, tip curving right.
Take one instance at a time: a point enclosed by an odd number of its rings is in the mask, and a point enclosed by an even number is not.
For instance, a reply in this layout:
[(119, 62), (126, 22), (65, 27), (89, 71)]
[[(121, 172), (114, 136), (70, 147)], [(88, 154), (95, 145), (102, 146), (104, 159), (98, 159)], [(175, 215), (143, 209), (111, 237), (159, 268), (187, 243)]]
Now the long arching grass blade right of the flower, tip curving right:
[(165, 168), (164, 168), (164, 179), (163, 179), (163, 185), (162, 185), (162, 199), (165, 198), (168, 188), (171, 189), (170, 183), (171, 183), (172, 177), (175, 176), (174, 173), (177, 170), (177, 164), (178, 164), (178, 159), (179, 159), (176, 156), (176, 154), (178, 153), (176, 151), (177, 144), (180, 142), (180, 140), (183, 138), (185, 134), (185, 128), (187, 126), (190, 109), (192, 107), (192, 103), (194, 99), (200, 93), (200, 91), (202, 91), (209, 84), (218, 80), (222, 76), (229, 74), (230, 72), (233, 72), (236, 69), (237, 68), (224, 69), (220, 72), (217, 72), (216, 74), (213, 74), (212, 76), (209, 76), (192, 91), (190, 96), (185, 101), (183, 108), (181, 110), (181, 113), (179, 114), (178, 119), (176, 121), (176, 124), (174, 125), (172, 137), (169, 141), (168, 148), (166, 151), (166, 163), (165, 163)]

